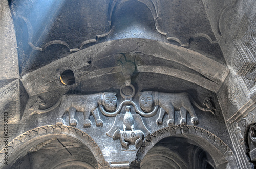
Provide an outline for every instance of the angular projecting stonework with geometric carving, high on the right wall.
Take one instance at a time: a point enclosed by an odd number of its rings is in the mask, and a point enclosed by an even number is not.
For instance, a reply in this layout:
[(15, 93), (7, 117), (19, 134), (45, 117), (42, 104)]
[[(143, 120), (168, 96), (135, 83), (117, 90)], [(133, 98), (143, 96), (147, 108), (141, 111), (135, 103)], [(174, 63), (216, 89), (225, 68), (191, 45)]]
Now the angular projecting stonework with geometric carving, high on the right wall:
[[(233, 59), (234, 70), (241, 84), (246, 97), (250, 97), (256, 92), (256, 27), (246, 15), (238, 27), (233, 37), (233, 42), (237, 47), (238, 54)], [(240, 60), (240, 64), (237, 62)]]

